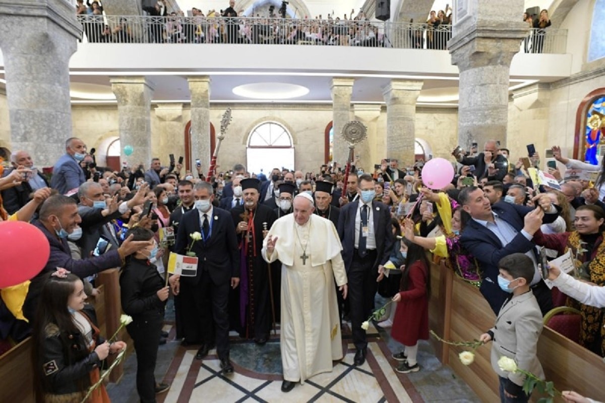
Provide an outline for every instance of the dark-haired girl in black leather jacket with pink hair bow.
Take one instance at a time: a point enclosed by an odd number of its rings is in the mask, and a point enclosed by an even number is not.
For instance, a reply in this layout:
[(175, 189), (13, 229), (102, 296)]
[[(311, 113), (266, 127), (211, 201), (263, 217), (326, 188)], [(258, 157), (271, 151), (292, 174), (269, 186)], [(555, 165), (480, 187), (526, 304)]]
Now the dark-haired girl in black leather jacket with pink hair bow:
[[(40, 298), (31, 335), (36, 402), (82, 401), (99, 381), (102, 361), (126, 344), (110, 344), (100, 336), (94, 309), (85, 306), (82, 281), (67, 270), (47, 275)], [(88, 401), (109, 403), (105, 386)]]

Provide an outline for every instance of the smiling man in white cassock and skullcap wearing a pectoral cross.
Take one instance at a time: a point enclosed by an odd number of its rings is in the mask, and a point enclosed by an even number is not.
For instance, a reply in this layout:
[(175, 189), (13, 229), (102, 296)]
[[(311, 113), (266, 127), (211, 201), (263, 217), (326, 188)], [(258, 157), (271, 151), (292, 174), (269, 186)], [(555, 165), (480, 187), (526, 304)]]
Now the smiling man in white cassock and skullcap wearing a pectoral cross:
[(332, 371), (342, 358), (336, 284), (347, 298), (341, 243), (332, 221), (314, 215), (313, 198), (298, 194), (293, 214), (279, 218), (263, 241), (263, 258), (281, 266), (283, 392)]

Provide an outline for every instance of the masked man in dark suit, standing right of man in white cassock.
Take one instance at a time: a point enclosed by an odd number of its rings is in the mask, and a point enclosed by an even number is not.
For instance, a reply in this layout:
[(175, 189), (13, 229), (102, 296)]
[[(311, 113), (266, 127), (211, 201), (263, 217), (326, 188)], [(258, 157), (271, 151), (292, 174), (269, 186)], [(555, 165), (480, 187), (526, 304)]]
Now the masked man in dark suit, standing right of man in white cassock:
[(389, 208), (374, 201), (374, 179), (361, 175), (359, 200), (344, 205), (338, 218), (338, 235), (342, 243), (342, 260), (347, 269), (350, 317), (355, 344), (355, 365), (365, 362), (367, 339), (361, 324), (374, 308), (378, 289), (378, 266), (385, 264), (393, 247)]

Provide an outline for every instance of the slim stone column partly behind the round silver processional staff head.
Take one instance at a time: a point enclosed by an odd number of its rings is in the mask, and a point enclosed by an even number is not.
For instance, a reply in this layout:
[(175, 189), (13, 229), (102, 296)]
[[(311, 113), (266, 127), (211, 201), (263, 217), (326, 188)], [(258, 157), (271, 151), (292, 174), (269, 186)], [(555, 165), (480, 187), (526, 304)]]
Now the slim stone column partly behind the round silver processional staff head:
[(334, 128), (334, 143), (332, 160), (345, 166), (348, 159), (348, 143), (342, 138), (342, 128), (352, 120), (351, 96), (355, 79), (332, 79), (332, 126)]

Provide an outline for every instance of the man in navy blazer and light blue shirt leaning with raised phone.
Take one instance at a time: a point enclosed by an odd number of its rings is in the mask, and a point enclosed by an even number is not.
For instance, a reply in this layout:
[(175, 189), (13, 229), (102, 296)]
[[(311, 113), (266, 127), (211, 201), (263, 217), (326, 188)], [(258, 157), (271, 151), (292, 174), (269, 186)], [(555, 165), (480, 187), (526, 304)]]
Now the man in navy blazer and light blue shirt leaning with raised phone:
[[(471, 253), (482, 270), (479, 288), (489, 306), (498, 313), (508, 296), (498, 285), (498, 262), (514, 253), (528, 255), (534, 262), (535, 274), (530, 283), (542, 314), (552, 309), (551, 290), (541, 278), (538, 270), (538, 255), (532, 238), (543, 223), (557, 219), (558, 211), (548, 196), (537, 198), (539, 208), (512, 205), (497, 201), (490, 205), (482, 189), (468, 186), (458, 197), (463, 210), (471, 216), (466, 223), (460, 242)], [(545, 214), (546, 211), (546, 214)]]

